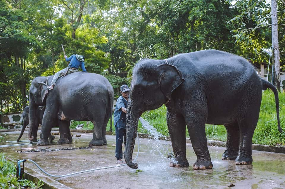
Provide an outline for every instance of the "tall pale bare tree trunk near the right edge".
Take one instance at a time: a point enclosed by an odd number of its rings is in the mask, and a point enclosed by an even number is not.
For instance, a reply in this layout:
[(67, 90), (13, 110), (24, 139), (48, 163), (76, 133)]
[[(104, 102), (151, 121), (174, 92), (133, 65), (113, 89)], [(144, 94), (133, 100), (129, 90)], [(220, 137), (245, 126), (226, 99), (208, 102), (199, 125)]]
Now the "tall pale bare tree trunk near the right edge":
[(277, 2), (271, 1), (271, 33), (273, 47), (273, 62), (274, 62), (274, 85), (280, 91), (280, 52), (278, 43), (278, 17), (277, 17)]

